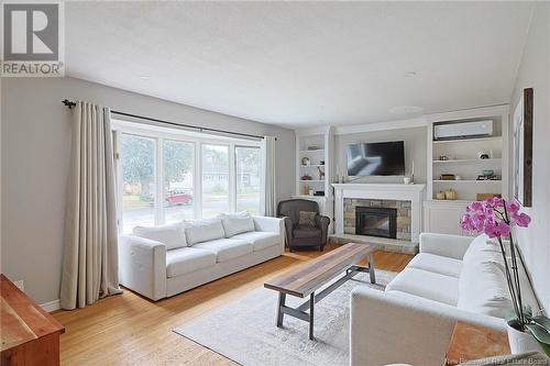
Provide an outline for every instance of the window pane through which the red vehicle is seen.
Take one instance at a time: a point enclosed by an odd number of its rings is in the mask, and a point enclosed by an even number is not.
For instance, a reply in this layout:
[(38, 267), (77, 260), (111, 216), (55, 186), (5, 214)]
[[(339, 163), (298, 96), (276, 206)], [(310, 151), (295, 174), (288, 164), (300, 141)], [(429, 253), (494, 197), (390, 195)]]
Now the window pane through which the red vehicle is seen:
[(190, 220), (193, 209), (195, 144), (164, 142), (164, 221)]

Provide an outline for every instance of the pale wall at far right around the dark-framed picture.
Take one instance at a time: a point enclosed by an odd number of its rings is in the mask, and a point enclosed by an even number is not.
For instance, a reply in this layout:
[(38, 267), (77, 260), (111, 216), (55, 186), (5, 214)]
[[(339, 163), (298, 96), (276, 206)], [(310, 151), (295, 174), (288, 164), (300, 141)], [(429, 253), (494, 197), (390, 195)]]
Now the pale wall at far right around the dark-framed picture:
[[(550, 311), (550, 3), (537, 3), (512, 97), (514, 115), (524, 88), (534, 88), (532, 218), (517, 231), (535, 289)], [(510, 187), (513, 187), (510, 181)]]

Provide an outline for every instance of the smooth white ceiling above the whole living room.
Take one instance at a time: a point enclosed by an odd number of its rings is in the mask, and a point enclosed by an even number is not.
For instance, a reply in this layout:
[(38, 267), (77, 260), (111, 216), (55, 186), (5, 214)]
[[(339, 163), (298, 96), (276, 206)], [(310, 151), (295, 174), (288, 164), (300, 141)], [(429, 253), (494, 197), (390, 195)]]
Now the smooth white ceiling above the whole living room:
[(67, 75), (288, 127), (400, 120), (509, 102), (531, 11), (527, 2), (69, 2)]

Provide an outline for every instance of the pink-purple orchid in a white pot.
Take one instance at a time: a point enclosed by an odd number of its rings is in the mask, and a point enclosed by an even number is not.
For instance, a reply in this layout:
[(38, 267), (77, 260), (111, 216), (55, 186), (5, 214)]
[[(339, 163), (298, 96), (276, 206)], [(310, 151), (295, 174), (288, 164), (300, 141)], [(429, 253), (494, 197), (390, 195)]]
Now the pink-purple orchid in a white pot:
[[(538, 343), (540, 348), (550, 356), (550, 319), (541, 314), (532, 314), (530, 307), (524, 304), (521, 299), (519, 253), (513, 230), (516, 226), (527, 228), (530, 221), (531, 218), (527, 213), (520, 212), (517, 201), (507, 202), (502, 198), (493, 197), (485, 201), (470, 203), (466, 213), (462, 217), (461, 225), (462, 229), (485, 233), (496, 239), (501, 246), (513, 303), (513, 311), (506, 319), (512, 353), (538, 351)], [(506, 239), (509, 240), (509, 248), (503, 242)]]

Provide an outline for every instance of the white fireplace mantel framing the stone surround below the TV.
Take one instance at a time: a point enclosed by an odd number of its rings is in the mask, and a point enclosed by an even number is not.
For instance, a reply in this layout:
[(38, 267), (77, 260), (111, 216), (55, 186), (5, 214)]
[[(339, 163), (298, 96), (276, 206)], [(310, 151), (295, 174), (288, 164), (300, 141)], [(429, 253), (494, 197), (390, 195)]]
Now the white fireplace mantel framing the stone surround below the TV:
[(418, 243), (425, 185), (333, 184), (336, 233), (343, 234), (345, 198), (410, 201), (410, 241)]

